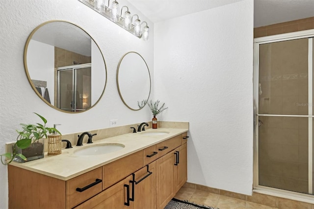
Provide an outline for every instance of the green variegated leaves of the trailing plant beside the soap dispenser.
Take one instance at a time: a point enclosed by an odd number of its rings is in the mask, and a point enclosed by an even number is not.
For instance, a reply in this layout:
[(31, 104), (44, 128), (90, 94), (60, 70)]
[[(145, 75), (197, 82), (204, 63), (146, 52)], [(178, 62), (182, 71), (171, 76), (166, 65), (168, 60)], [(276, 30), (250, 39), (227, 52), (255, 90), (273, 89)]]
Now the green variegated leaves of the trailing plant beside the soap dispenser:
[[(52, 133), (52, 131), (55, 131), (61, 134), (60, 131), (56, 130), (55, 128), (46, 127), (47, 124), (46, 118), (37, 113), (35, 114), (38, 115), (38, 117), (40, 117), (44, 124), (36, 123), (36, 125), (34, 125), (21, 123), (20, 125), (22, 126), (23, 130), (22, 131), (16, 130), (19, 135), (16, 138), (15, 144), (13, 145), (12, 153), (5, 153), (0, 155), (2, 164), (6, 165), (11, 163), (12, 160), (17, 156), (26, 160), (27, 158), (24, 155), (18, 153), (18, 150), (26, 149), (32, 143), (38, 143), (39, 139), (43, 138), (44, 136), (47, 138), (47, 132)], [(3, 161), (2, 157), (8, 158), (9, 161), (8, 162), (5, 162), (5, 160)]]

